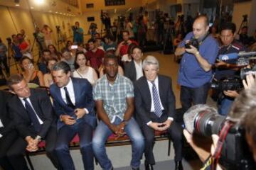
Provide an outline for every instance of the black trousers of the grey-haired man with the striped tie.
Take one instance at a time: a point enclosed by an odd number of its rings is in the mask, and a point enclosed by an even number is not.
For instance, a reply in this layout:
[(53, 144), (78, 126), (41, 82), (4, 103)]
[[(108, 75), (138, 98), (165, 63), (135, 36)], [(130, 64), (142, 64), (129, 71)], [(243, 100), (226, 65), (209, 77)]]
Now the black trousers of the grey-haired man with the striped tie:
[[(154, 113), (151, 114), (151, 120), (155, 123), (164, 123), (167, 120), (167, 115), (162, 115), (160, 118), (156, 117)], [(152, 118), (154, 117), (154, 118)], [(148, 125), (142, 125), (142, 132), (145, 137), (145, 164), (155, 164), (154, 159), (154, 129)], [(173, 121), (168, 129), (171, 140), (174, 142), (175, 161), (181, 161), (182, 159), (182, 128), (181, 125)]]

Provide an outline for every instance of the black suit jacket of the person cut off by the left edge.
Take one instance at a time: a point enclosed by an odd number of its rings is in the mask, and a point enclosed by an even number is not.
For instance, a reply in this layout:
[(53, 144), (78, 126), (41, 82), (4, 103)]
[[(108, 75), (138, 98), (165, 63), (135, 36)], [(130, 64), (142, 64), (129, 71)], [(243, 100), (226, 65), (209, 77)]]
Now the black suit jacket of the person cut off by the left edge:
[(9, 92), (0, 91), (0, 120), (4, 125), (4, 127), (0, 128), (0, 134), (3, 136), (14, 130), (15, 124), (7, 108), (7, 101), (11, 96)]

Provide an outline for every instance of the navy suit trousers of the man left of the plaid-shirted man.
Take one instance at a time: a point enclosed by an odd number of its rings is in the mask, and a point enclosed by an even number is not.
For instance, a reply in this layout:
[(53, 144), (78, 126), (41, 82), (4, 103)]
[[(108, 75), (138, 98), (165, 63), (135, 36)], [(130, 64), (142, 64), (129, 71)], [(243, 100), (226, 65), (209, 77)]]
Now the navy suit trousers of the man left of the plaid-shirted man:
[(80, 139), (80, 152), (82, 154), (84, 169), (93, 170), (92, 127), (84, 122), (76, 123), (75, 125), (64, 125), (58, 130), (58, 139), (55, 150), (60, 164), (63, 169), (75, 169), (68, 146), (77, 133)]

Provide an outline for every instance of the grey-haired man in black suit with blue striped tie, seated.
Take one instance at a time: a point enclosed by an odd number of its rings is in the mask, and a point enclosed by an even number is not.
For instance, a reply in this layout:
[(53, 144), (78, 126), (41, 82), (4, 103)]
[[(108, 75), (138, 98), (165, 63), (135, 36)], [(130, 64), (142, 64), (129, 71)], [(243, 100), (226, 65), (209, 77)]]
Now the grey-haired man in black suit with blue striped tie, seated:
[(153, 56), (143, 61), (144, 77), (134, 83), (135, 107), (145, 141), (145, 169), (155, 164), (154, 131), (168, 130), (174, 142), (175, 169), (183, 169), (182, 128), (175, 122), (175, 96), (169, 77), (158, 75), (159, 62)]

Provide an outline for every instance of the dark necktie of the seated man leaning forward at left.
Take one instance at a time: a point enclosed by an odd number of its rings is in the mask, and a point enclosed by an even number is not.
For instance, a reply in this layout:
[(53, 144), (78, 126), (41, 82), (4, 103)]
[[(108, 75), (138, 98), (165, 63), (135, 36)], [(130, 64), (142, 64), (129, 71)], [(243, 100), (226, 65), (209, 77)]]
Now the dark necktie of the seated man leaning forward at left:
[(41, 130), (41, 124), (39, 123), (39, 120), (36, 117), (35, 111), (33, 110), (31, 104), (28, 102), (27, 98), (23, 98), (23, 101), (25, 101), (26, 111), (28, 113), (29, 118), (31, 119), (33, 127), (35, 128), (36, 132), (39, 132)]

